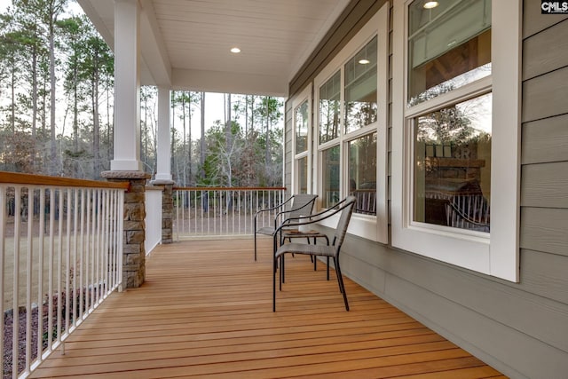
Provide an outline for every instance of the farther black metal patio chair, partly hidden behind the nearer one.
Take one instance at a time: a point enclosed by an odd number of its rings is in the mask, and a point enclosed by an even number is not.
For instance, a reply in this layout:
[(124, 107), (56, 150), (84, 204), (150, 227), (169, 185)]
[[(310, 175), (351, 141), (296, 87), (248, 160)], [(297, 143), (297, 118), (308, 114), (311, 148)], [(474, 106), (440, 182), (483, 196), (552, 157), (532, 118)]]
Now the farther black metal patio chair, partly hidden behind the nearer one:
[[(281, 223), (290, 217), (300, 217), (312, 214), (313, 205), (318, 197), (317, 194), (299, 193), (290, 196), (287, 201), (281, 202), (280, 204), (272, 207), (260, 209), (255, 214), (255, 260), (256, 260), (256, 234), (273, 235), (276, 229), (281, 225)], [(290, 204), (289, 209), (286, 209), (287, 204)], [(257, 229), (257, 218), (263, 212), (270, 212), (272, 210), (278, 210), (276, 217), (274, 217), (273, 226), (264, 226)], [(280, 231), (282, 228), (280, 228)]]

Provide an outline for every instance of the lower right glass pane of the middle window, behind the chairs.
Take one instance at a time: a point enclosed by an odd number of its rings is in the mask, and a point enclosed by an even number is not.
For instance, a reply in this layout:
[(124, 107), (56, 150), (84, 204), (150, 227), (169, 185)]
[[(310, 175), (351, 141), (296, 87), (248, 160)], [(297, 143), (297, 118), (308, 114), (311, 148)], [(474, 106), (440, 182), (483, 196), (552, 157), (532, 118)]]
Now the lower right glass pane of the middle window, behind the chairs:
[(349, 142), (349, 192), (356, 213), (376, 215), (376, 133)]

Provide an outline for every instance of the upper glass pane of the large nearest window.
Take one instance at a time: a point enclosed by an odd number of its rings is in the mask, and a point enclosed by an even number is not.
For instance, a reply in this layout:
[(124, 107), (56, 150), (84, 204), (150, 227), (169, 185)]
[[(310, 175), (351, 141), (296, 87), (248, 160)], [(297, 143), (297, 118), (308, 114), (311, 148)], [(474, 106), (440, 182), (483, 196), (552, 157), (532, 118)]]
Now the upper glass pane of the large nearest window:
[(491, 1), (410, 5), (408, 106), (491, 75)]

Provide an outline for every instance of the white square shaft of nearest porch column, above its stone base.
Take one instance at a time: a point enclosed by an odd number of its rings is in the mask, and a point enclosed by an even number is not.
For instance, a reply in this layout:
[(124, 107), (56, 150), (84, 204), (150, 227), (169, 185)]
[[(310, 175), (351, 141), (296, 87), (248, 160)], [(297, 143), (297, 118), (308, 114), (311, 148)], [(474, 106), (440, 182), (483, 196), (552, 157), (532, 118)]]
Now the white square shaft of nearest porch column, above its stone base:
[(114, 159), (112, 171), (142, 171), (138, 0), (114, 0)]

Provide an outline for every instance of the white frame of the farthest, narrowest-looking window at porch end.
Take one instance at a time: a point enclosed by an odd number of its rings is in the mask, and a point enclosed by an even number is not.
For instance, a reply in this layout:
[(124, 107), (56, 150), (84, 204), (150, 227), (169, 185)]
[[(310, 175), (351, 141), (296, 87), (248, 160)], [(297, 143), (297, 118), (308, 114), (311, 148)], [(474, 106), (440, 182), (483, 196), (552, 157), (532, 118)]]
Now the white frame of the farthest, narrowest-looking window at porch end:
[[(304, 104), (304, 101), (308, 102), (308, 136), (306, 139), (307, 149), (304, 152), (296, 153), (296, 109)], [(297, 94), (294, 99), (292, 99), (292, 190), (293, 193), (300, 193), (300, 179), (298, 170), (298, 161), (302, 158), (308, 158), (308, 192), (312, 192), (312, 83), (308, 84), (304, 91)]]

